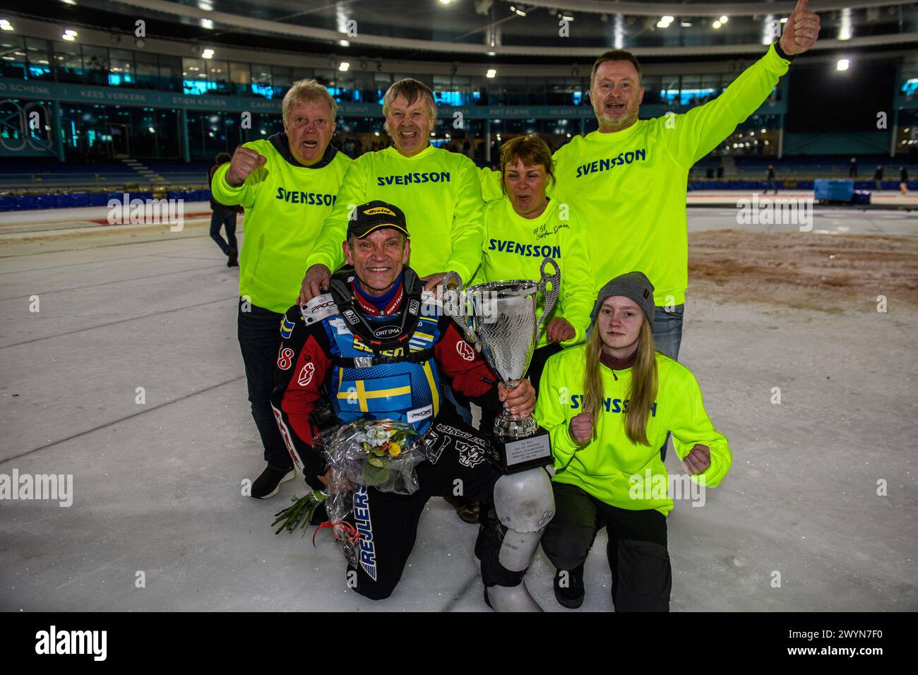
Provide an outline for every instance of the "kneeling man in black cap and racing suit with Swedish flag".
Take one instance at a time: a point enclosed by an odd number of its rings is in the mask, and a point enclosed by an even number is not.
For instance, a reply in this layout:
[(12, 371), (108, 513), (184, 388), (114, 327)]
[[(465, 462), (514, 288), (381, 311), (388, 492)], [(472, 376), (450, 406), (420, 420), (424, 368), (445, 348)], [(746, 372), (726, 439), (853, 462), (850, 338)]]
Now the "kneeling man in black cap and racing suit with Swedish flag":
[(503, 404), (527, 415), (535, 404), (532, 385), (495, 386), (497, 377), (434, 298), (421, 298), (423, 284), (405, 266), (409, 231), (399, 208), (378, 200), (356, 207), (342, 245), (353, 273), (333, 276), (329, 293), (288, 309), (281, 321), (271, 399), (281, 434), (313, 489), (331, 479), (313, 449), (320, 411), (329, 404), (341, 423), (408, 422), (427, 455), (416, 467), (414, 494), (354, 489), (349, 520), (361, 533), (354, 590), (373, 600), (391, 595), (424, 504), (462, 485), (465, 497), (483, 506), (476, 556), (486, 601), (498, 611), (540, 610), (523, 576), (554, 515), (549, 477), (542, 467), (501, 475), (485, 458), (487, 440), (443, 395), (451, 385), (483, 407)]

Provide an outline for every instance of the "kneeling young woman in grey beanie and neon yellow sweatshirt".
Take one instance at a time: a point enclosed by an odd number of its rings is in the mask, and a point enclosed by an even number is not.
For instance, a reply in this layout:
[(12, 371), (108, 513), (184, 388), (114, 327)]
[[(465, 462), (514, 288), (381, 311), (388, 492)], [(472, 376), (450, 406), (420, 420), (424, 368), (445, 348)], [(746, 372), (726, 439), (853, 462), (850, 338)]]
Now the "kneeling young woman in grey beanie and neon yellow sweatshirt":
[(536, 402), (554, 452), (556, 510), (542, 538), (558, 570), (554, 596), (583, 603), (584, 561), (605, 526), (615, 610), (666, 612), (673, 501), (659, 447), (671, 432), (689, 479), (708, 488), (730, 468), (730, 448), (689, 369), (654, 349), (654, 287), (643, 273), (602, 287), (591, 320), (586, 344), (548, 359)]

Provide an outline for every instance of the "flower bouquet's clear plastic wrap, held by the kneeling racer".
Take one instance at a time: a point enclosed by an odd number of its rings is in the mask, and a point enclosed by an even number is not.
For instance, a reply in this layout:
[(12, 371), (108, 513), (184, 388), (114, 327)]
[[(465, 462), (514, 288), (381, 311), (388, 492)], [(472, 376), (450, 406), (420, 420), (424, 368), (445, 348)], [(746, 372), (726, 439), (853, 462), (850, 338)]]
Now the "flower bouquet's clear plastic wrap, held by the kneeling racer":
[(335, 539), (352, 567), (357, 566), (360, 533), (346, 522), (359, 485), (382, 492), (412, 494), (420, 485), (415, 468), (425, 459), (418, 433), (406, 422), (357, 420), (322, 434), (332, 470), (325, 508)]

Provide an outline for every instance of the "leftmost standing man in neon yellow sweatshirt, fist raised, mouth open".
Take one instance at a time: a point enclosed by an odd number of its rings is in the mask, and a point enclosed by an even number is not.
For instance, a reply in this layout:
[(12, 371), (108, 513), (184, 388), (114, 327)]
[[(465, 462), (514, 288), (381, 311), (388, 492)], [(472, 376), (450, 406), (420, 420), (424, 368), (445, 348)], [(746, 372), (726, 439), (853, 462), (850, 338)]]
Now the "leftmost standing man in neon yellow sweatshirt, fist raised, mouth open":
[(294, 477), (271, 411), (278, 324), (299, 292), (304, 259), (338, 195), (351, 159), (330, 145), (337, 106), (321, 84), (301, 80), (284, 96), (284, 132), (243, 143), (211, 181), (221, 204), (245, 207), (240, 256), (239, 345), (252, 417), (268, 466), (252, 483), (252, 497), (277, 494)]

